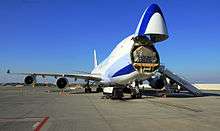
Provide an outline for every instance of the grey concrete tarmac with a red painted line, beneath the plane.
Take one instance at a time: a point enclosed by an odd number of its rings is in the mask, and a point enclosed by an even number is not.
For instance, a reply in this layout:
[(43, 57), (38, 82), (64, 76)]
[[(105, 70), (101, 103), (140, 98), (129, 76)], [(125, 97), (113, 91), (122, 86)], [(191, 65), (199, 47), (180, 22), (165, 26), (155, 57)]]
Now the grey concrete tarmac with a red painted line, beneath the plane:
[(111, 100), (102, 93), (50, 89), (0, 87), (0, 131), (220, 130), (220, 91)]

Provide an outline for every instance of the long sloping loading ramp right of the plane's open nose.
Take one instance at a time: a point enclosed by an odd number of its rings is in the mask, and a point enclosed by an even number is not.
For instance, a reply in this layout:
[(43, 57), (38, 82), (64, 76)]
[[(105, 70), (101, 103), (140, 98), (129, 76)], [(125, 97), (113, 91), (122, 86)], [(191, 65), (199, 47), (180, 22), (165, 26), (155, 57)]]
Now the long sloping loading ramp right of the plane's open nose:
[(195, 86), (193, 86), (190, 82), (187, 80), (179, 77), (178, 75), (174, 74), (172, 71), (165, 68), (165, 66), (160, 66), (158, 70), (161, 74), (163, 74), (165, 77), (173, 80), (176, 82), (180, 87), (186, 89), (190, 93), (192, 93), (194, 96), (202, 96), (202, 92), (197, 89)]

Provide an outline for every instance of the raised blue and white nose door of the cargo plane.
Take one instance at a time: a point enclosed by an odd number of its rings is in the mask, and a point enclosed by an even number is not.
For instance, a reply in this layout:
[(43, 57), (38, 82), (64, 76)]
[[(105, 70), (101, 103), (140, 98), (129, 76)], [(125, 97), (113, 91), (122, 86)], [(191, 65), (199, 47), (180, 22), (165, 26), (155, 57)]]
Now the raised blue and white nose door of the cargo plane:
[(152, 4), (144, 11), (135, 35), (149, 36), (153, 42), (164, 41), (168, 38), (166, 22), (158, 5)]

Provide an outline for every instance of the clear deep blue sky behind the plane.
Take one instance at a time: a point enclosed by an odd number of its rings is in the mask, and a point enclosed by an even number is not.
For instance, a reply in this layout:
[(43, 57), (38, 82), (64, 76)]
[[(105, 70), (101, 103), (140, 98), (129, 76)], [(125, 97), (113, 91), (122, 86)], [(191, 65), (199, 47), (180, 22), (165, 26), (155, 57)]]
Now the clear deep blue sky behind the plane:
[(8, 68), (90, 71), (93, 49), (99, 61), (107, 57), (152, 3), (161, 7), (170, 35), (156, 45), (161, 62), (192, 81), (220, 83), (218, 0), (2, 0), (0, 82), (10, 80)]

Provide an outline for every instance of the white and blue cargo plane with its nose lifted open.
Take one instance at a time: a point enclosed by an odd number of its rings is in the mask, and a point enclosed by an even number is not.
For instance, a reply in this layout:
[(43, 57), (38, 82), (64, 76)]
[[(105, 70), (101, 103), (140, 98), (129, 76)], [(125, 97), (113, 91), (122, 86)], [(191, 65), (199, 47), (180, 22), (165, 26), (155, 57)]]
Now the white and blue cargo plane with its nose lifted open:
[[(98, 85), (97, 91), (103, 88), (104, 94), (112, 98), (123, 97), (123, 89), (130, 89), (132, 98), (142, 96), (139, 85), (148, 80), (152, 88), (162, 89), (167, 84), (160, 72), (160, 57), (155, 44), (168, 38), (164, 15), (156, 4), (150, 5), (137, 25), (136, 31), (122, 40), (111, 54), (100, 64), (97, 63), (94, 50), (94, 69), (91, 73), (12, 73), (27, 75), (25, 84), (36, 82), (37, 76), (57, 78), (56, 85), (60, 89), (68, 86), (68, 79), (84, 79), (85, 92), (91, 92), (91, 83)], [(10, 71), (8, 70), (8, 73)], [(178, 82), (177, 82), (178, 83)], [(181, 83), (180, 83), (181, 84)]]

